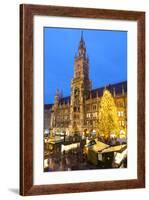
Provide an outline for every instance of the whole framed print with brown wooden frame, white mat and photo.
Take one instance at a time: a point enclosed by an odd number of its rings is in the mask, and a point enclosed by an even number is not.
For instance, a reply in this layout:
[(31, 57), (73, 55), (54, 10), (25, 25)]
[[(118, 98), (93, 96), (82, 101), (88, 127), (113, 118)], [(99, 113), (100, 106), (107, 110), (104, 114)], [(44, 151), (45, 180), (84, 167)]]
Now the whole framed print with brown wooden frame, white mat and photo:
[(145, 187), (145, 13), (20, 6), (20, 194)]

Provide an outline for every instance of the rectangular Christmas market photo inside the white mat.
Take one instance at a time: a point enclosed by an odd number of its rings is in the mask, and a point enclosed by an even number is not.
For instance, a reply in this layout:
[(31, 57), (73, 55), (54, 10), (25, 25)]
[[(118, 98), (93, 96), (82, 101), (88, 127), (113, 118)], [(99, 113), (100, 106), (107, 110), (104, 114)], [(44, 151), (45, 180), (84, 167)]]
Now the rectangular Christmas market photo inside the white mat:
[(43, 27), (44, 172), (127, 168), (127, 42)]

